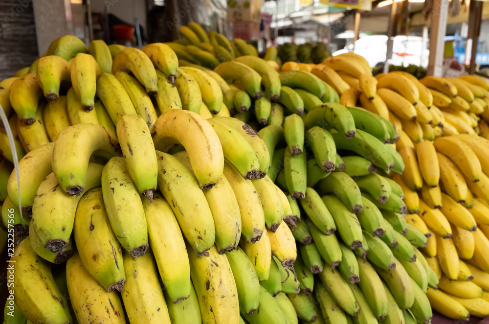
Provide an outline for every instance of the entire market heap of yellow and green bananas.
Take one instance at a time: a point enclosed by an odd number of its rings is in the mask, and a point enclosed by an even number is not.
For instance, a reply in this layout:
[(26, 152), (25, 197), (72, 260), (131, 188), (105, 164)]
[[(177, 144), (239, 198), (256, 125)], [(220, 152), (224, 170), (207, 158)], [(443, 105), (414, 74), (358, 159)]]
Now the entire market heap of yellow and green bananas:
[(0, 82), (5, 323), (489, 316), (489, 84), (180, 32)]

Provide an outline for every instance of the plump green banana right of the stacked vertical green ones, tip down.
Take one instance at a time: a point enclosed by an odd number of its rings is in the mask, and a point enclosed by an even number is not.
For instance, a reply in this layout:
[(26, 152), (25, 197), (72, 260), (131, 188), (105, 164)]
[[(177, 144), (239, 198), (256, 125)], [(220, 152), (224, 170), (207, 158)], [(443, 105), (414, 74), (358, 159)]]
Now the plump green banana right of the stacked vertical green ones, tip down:
[(318, 126), (310, 128), (306, 132), (306, 145), (310, 145), (314, 159), (324, 171), (334, 171), (336, 144), (328, 131)]

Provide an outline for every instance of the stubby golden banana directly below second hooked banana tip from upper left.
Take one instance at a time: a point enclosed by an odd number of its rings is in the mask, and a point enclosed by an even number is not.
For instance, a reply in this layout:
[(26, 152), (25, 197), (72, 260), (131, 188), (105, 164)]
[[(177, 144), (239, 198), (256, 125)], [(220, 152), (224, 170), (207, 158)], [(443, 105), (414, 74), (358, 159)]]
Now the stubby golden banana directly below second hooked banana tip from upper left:
[(44, 107), (44, 126), (51, 141), (56, 141), (59, 134), (71, 126), (67, 109), (67, 96), (61, 95), (56, 101), (48, 102)]

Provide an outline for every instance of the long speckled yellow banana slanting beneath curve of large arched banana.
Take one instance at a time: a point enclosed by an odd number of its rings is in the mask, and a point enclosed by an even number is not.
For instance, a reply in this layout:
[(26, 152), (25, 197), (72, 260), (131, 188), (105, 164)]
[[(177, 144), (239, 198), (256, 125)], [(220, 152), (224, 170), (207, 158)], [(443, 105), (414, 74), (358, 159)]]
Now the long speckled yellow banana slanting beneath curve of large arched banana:
[(156, 151), (156, 157), (158, 188), (165, 199), (172, 202), (178, 224), (193, 250), (205, 255), (214, 245), (216, 235), (205, 196), (192, 173), (177, 158), (159, 151)]

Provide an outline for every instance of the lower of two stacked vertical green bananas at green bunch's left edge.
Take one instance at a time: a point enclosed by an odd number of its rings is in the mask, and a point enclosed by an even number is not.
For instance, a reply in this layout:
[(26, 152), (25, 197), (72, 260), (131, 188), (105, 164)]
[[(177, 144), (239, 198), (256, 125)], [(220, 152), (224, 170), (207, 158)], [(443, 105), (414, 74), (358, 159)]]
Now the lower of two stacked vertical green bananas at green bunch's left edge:
[(307, 188), (307, 155), (306, 151), (300, 155), (292, 156), (292, 149), (288, 146), (284, 156), (284, 174), (288, 191), (293, 199), (305, 197)]

